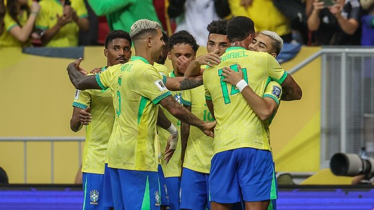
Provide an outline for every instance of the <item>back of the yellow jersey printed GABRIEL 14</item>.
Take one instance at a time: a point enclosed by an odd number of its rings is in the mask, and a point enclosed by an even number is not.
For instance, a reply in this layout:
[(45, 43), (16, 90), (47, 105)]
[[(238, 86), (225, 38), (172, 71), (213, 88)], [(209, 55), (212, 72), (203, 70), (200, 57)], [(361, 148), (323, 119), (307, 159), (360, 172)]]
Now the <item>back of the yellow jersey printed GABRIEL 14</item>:
[(221, 63), (204, 71), (203, 79), (206, 97), (213, 101), (215, 127), (214, 153), (253, 147), (270, 150), (267, 134), (260, 118), (247, 104), (235, 86), (223, 82), (222, 68), (230, 66), (237, 70), (242, 68), (244, 80), (252, 90), (261, 95), (264, 93), (268, 73), (269, 56), (240, 47), (231, 47), (221, 57)]

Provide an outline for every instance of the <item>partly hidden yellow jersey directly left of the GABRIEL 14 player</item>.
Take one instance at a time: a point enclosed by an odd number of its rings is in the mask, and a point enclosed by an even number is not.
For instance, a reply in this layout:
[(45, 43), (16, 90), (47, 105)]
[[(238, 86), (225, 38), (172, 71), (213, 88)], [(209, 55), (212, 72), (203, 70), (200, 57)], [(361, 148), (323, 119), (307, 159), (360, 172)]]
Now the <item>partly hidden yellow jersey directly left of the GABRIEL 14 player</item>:
[[(191, 113), (204, 122), (213, 122), (214, 118), (206, 106), (204, 86), (184, 90), (184, 104), (191, 106)], [(183, 166), (200, 173), (209, 173), (213, 158), (213, 137), (208, 137), (199, 128), (190, 126), (186, 154)]]

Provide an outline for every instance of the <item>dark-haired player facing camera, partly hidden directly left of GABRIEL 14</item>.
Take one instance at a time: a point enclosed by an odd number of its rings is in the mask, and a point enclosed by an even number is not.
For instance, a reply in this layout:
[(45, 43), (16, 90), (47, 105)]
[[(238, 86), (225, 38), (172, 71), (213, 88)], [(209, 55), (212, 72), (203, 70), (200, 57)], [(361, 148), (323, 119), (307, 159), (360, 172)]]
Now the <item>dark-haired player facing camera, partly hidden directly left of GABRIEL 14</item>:
[[(207, 27), (209, 35), (206, 49), (208, 53), (217, 55), (218, 59), (229, 47), (226, 23), (226, 20), (212, 21)], [(204, 122), (214, 120), (205, 103), (204, 86), (184, 90), (182, 98), (184, 106)], [(208, 180), (213, 157), (213, 139), (182, 122), (181, 143), (181, 209), (210, 209)]]

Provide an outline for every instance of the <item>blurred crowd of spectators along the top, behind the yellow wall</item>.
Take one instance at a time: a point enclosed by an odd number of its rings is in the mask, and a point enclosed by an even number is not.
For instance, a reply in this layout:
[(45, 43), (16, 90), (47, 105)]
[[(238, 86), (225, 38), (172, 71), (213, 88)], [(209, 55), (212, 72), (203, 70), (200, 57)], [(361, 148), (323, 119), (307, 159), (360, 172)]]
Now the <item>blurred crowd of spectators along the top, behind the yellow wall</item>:
[(158, 21), (206, 44), (215, 19), (250, 17), (285, 43), (374, 46), (374, 0), (0, 0), (0, 47), (103, 45), (110, 30)]

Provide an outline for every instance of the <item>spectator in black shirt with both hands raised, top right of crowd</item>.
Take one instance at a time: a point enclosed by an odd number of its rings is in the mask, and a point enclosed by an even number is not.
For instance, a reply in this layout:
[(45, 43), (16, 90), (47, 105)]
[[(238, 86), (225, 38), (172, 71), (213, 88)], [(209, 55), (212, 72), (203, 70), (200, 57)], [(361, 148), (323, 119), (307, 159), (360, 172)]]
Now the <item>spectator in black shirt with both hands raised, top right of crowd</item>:
[(358, 0), (337, 0), (332, 6), (314, 0), (308, 17), (308, 28), (315, 37), (312, 45), (360, 45), (359, 21)]

